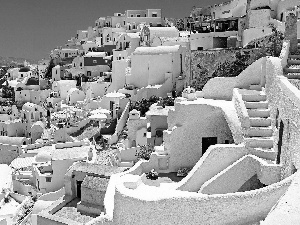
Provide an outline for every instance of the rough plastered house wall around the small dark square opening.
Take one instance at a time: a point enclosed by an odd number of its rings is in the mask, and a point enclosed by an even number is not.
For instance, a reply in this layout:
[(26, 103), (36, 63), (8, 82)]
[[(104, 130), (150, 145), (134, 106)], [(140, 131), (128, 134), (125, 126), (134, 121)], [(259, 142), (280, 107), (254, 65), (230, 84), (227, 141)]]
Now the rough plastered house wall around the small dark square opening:
[(168, 129), (164, 132), (164, 146), (170, 151), (171, 171), (193, 167), (198, 162), (203, 154), (203, 137), (217, 137), (218, 143), (232, 140), (222, 111), (205, 104), (176, 104), (175, 111), (169, 111)]

